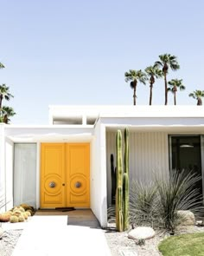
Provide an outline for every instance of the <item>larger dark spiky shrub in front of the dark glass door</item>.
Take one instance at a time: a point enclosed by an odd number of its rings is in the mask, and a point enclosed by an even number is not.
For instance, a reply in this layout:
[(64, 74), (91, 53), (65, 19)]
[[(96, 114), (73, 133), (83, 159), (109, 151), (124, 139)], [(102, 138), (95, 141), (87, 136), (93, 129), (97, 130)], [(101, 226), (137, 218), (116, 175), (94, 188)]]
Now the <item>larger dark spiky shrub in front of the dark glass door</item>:
[(176, 226), (182, 222), (179, 210), (197, 213), (203, 210), (202, 196), (195, 184), (201, 177), (193, 172), (172, 170), (169, 179), (156, 178), (158, 225), (175, 233)]

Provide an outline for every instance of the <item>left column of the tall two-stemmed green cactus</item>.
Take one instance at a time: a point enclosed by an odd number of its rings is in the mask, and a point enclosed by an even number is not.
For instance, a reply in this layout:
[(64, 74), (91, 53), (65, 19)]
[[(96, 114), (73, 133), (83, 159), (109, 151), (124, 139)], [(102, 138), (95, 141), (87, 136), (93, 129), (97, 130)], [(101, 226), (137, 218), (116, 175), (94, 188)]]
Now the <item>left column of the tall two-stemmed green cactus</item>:
[(123, 160), (122, 160), (122, 133), (120, 130), (116, 136), (117, 148), (117, 183), (116, 183), (116, 228), (123, 231)]

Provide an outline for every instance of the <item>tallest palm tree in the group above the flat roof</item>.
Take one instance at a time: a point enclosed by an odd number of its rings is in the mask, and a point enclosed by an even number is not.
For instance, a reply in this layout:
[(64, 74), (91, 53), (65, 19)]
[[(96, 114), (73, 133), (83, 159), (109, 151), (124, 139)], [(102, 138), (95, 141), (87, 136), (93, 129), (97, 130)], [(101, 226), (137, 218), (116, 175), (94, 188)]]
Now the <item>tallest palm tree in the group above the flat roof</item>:
[(167, 88), (167, 74), (169, 67), (172, 70), (180, 69), (177, 62), (176, 56), (171, 56), (169, 54), (164, 54), (159, 56), (159, 61), (155, 62), (156, 67), (161, 67), (163, 70), (164, 85), (165, 85), (165, 105), (168, 104), (168, 88)]

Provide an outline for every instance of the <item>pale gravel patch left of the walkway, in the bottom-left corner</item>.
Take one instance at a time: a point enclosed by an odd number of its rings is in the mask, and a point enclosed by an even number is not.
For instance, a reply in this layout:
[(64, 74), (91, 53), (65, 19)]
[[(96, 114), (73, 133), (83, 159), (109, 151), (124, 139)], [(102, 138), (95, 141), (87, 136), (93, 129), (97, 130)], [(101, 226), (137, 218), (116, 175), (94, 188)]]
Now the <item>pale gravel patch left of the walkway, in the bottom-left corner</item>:
[(16, 246), (16, 242), (22, 234), (22, 230), (7, 230), (4, 231), (3, 237), (0, 240), (0, 255), (10, 256)]

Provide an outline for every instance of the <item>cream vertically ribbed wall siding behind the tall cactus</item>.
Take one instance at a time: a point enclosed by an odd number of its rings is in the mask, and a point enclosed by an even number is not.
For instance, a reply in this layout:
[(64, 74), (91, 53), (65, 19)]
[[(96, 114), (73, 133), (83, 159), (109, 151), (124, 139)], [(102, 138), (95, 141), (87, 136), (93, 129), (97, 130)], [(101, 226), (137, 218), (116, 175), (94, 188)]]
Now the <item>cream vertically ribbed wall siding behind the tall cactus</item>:
[[(111, 154), (116, 159), (116, 132), (106, 133), (107, 197), (111, 202)], [(168, 174), (168, 133), (130, 133), (130, 181), (150, 182), (155, 174)]]

